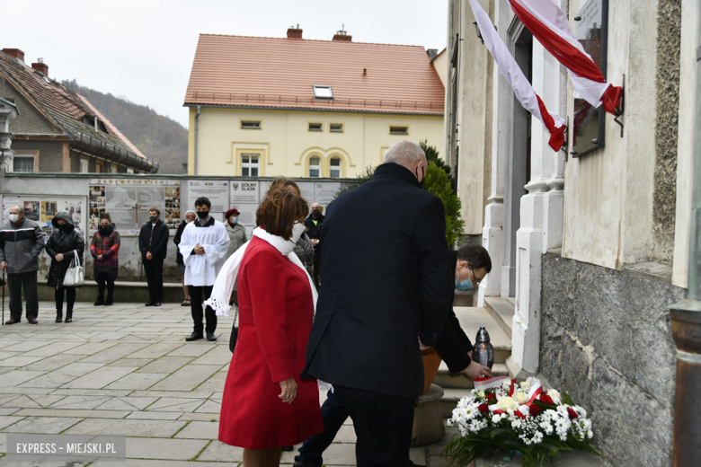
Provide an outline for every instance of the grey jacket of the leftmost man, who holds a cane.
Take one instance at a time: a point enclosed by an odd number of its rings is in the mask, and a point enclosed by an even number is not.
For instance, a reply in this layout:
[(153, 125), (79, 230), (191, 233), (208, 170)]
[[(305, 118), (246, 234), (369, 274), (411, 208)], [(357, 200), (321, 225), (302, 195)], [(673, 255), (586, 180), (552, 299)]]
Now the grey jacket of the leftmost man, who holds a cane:
[(8, 274), (39, 270), (39, 255), (44, 235), (36, 222), (22, 217), (17, 224), (5, 221), (0, 230), (0, 262), (7, 263)]

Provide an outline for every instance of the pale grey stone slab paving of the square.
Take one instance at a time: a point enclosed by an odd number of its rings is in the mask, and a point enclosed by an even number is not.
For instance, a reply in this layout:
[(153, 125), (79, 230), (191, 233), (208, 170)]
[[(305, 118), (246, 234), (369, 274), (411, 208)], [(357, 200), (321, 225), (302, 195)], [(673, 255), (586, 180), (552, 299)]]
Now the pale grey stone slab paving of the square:
[[(54, 304), (42, 302), (38, 325), (0, 328), (0, 464), (35, 465), (4, 462), (7, 433), (124, 434), (128, 461), (118, 467), (241, 463), (241, 448), (217, 441), (232, 318), (219, 320), (217, 342), (185, 342), (190, 308), (177, 304), (76, 304), (74, 322), (54, 319)], [(346, 423), (324, 454), (326, 465), (356, 463)], [(453, 429), (435, 445), (413, 448), (413, 462), (448, 465), (440, 453)], [(281, 463), (294, 454), (283, 453)]]

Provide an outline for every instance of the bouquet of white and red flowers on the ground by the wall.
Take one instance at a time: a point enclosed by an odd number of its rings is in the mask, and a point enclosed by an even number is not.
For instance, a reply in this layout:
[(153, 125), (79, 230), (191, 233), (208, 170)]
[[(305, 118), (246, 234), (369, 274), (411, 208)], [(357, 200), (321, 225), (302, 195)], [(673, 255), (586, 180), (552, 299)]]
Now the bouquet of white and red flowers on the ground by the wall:
[(517, 384), (506, 376), (475, 379), (475, 389), (453, 410), (459, 428), (443, 454), (467, 465), (477, 458), (520, 452), (523, 465), (551, 463), (563, 451), (599, 455), (587, 411), (567, 392), (545, 390), (537, 378)]

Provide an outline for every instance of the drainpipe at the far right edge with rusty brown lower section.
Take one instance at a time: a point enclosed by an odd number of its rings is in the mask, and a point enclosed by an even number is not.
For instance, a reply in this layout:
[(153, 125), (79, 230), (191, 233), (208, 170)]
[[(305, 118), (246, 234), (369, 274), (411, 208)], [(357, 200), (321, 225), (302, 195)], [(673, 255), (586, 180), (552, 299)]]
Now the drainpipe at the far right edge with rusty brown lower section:
[[(701, 42), (701, 34), (699, 41)], [(674, 467), (697, 466), (701, 459), (701, 400), (698, 399), (698, 388), (701, 388), (701, 43), (697, 46), (697, 115), (688, 291), (687, 300), (670, 306), (672, 338), (677, 346), (672, 444)]]

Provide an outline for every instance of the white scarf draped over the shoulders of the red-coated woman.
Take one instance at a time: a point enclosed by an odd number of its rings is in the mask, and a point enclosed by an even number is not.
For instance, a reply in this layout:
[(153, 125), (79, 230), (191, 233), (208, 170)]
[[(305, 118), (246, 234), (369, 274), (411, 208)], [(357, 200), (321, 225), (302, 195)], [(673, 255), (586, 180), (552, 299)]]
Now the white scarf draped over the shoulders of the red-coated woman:
[[(258, 237), (265, 242), (269, 242), (277, 251), (280, 251), (282, 256), (286, 256), (288, 260), (292, 261), (292, 263), (297, 266), (297, 268), (305, 271), (306, 278), (309, 280), (309, 287), (312, 289), (314, 313), (316, 313), (316, 300), (319, 295), (316, 293), (314, 282), (309, 276), (309, 273), (306, 272), (302, 261), (297, 258), (297, 255), (293, 251), (296, 246), (295, 243), (291, 240), (285, 240), (279, 235), (268, 234), (261, 227), (256, 227), (253, 230), (253, 236)], [(226, 260), (226, 263), (224, 263), (224, 266), (222, 266), (221, 270), (219, 271), (217, 280), (214, 282), (212, 294), (204, 302), (204, 306), (209, 305), (214, 312), (217, 313), (217, 316), (228, 317), (229, 315), (229, 310), (231, 309), (229, 300), (231, 300), (231, 294), (234, 291), (236, 278), (238, 278), (238, 268), (241, 265), (241, 261), (244, 260), (244, 254), (250, 242), (250, 240), (245, 242), (241, 248), (236, 250), (235, 253), (231, 255), (228, 260)]]

